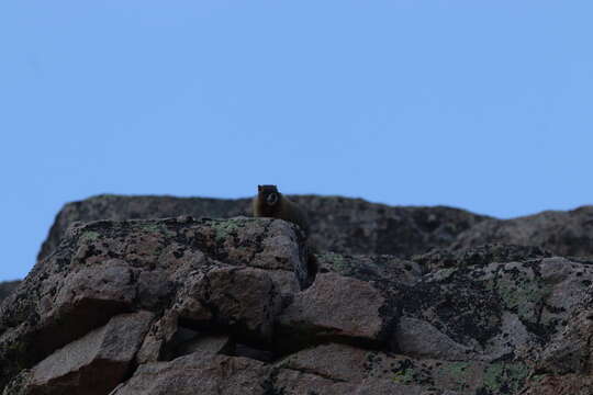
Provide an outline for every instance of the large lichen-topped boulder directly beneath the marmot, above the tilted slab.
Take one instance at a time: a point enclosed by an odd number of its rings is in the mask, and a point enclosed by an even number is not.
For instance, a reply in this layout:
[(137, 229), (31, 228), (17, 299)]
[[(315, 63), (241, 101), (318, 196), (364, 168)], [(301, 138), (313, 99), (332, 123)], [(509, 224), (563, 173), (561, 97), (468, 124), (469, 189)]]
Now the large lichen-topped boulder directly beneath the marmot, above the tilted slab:
[(174, 357), (182, 330), (271, 343), (281, 294), (314, 275), (301, 260), (302, 242), (292, 225), (266, 218), (74, 224), (1, 304), (0, 387), (111, 317), (138, 309), (175, 316), (155, 327), (138, 361)]

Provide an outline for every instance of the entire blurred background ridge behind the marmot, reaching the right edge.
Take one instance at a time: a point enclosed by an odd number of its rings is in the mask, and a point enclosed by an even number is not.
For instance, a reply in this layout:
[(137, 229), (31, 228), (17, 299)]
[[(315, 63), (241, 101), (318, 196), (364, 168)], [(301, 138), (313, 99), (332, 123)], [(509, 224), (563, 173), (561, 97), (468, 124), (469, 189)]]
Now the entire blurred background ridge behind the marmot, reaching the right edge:
[[(484, 244), (542, 248), (558, 256), (593, 256), (593, 206), (496, 219), (463, 210), (401, 207), (340, 196), (294, 195), (309, 214), (314, 245), (346, 255), (410, 258), (432, 248), (465, 250)], [(191, 215), (250, 215), (250, 199), (99, 195), (68, 203), (56, 216), (38, 259), (48, 256), (75, 222), (149, 219)]]

